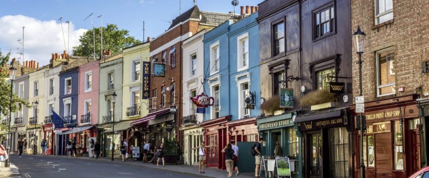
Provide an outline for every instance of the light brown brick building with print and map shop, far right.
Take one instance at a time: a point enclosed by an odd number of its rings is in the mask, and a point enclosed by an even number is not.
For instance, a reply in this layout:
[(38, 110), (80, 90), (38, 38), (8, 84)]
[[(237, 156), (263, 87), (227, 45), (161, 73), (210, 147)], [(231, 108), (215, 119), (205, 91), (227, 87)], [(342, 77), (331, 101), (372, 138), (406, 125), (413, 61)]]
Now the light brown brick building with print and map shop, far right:
[[(428, 7), (429, 2), (415, 0), (351, 1), (352, 31), (360, 26), (366, 33), (362, 55), (366, 177), (408, 177), (428, 165), (424, 131), (429, 75), (424, 61), (429, 57), (425, 43), (429, 23), (424, 21), (429, 12), (423, 10)], [(353, 47), (353, 95), (358, 96), (354, 52)], [(354, 112), (355, 107), (350, 108)], [(360, 136), (355, 135), (354, 176), (360, 177)]]

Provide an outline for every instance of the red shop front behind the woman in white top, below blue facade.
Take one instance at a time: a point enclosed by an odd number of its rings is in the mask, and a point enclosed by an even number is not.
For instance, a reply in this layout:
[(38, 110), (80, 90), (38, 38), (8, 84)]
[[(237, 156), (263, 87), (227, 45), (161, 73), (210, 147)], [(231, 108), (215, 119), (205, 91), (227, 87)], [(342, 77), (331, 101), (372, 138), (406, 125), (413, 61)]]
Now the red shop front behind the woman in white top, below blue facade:
[(228, 144), (228, 130), (226, 123), (231, 116), (220, 117), (217, 119), (207, 120), (201, 123), (204, 128), (203, 137), (207, 146), (206, 164), (208, 167), (217, 167), (218, 169), (226, 169), (225, 155), (222, 154), (222, 149)]

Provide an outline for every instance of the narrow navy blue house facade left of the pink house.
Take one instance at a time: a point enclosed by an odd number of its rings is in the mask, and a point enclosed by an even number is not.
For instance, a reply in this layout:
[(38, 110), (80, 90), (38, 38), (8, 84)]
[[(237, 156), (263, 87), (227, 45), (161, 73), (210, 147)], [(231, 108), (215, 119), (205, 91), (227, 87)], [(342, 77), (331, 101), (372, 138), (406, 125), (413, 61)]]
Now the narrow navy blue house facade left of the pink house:
[[(59, 115), (69, 123), (64, 122), (64, 127), (73, 128), (78, 123), (78, 93), (79, 93), (79, 67), (61, 71), (60, 77), (60, 112)], [(66, 80), (71, 80), (71, 92), (66, 93)], [(70, 114), (65, 113), (65, 105), (70, 103)]]

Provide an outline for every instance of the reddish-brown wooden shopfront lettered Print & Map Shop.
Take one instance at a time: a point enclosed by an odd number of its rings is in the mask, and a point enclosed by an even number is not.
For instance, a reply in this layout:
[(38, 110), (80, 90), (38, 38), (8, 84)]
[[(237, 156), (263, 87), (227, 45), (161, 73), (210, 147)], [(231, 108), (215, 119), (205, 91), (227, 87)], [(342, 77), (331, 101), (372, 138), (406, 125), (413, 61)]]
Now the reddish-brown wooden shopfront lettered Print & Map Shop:
[[(408, 177), (421, 168), (422, 120), (415, 99), (415, 95), (408, 95), (365, 103), (366, 177)], [(354, 106), (350, 108), (354, 111)], [(358, 176), (360, 136), (354, 143), (354, 175)]]

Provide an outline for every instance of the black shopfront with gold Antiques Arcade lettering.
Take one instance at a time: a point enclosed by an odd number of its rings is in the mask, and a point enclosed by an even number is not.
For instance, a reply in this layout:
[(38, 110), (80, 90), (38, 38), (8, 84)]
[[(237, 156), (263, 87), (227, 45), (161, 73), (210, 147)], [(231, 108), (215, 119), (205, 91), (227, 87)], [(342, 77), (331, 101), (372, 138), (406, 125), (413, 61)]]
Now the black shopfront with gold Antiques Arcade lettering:
[(296, 117), (302, 140), (302, 177), (351, 177), (351, 120), (339, 108)]

